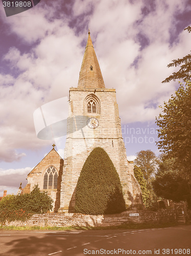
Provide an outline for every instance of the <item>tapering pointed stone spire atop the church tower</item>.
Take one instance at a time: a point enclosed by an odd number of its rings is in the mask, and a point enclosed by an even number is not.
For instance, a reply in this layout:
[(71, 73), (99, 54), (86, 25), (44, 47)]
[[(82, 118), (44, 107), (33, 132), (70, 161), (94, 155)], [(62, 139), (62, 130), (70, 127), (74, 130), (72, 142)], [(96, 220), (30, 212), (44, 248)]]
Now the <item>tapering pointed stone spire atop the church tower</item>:
[(105, 88), (100, 65), (88, 32), (87, 44), (82, 60), (78, 88)]

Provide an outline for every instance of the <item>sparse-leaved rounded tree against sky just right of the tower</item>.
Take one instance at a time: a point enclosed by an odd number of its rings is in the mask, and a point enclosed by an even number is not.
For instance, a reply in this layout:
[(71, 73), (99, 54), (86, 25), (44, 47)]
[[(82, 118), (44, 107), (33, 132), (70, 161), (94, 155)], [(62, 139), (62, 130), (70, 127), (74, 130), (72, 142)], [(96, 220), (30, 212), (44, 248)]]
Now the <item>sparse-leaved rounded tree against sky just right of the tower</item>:
[(144, 179), (149, 184), (152, 177), (154, 177), (154, 173), (156, 172), (158, 159), (155, 153), (151, 150), (141, 150), (136, 155), (137, 156), (134, 163), (140, 167)]

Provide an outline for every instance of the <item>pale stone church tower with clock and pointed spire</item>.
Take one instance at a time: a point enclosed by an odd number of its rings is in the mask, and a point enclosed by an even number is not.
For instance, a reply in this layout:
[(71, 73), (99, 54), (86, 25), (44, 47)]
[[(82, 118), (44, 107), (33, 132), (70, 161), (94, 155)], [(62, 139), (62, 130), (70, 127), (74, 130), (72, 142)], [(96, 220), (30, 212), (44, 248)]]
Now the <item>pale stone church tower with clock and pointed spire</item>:
[(133, 162), (127, 160), (115, 89), (105, 88), (96, 53), (88, 32), (77, 88), (69, 89), (69, 115), (59, 212), (73, 212), (78, 178), (95, 147), (109, 155), (120, 177), (126, 205), (140, 205), (140, 185)]

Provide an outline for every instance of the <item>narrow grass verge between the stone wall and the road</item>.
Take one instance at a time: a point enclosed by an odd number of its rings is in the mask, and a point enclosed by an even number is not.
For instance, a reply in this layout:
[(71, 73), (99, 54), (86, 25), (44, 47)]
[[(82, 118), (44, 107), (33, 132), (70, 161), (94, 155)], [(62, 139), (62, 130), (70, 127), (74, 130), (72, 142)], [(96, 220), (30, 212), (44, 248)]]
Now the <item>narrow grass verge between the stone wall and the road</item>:
[(148, 229), (148, 228), (165, 228), (176, 226), (176, 223), (161, 223), (161, 224), (149, 224), (149, 223), (123, 223), (118, 226), (106, 226), (106, 227), (40, 227), (40, 226), (0, 226), (0, 230), (111, 230), (111, 229)]

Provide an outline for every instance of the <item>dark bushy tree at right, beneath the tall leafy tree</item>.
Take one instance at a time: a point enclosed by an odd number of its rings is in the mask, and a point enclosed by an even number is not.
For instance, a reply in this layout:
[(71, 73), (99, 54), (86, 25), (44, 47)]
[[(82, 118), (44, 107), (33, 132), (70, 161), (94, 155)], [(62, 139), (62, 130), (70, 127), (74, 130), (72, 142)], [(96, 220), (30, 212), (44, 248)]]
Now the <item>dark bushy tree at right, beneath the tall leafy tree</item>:
[(188, 181), (183, 179), (180, 172), (174, 169), (175, 159), (166, 159), (161, 156), (158, 172), (153, 181), (153, 189), (157, 196), (173, 200), (175, 202), (187, 201), (191, 207), (190, 186)]

